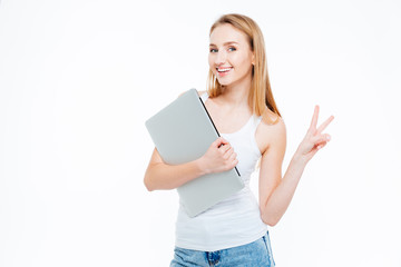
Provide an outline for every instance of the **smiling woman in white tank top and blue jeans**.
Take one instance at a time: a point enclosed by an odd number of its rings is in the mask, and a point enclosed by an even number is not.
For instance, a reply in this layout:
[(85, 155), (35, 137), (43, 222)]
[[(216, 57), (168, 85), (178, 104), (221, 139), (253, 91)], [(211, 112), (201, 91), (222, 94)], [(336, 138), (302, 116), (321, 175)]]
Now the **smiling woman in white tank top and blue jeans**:
[[(260, 28), (248, 17), (225, 14), (212, 26), (209, 39), (208, 88), (199, 96), (222, 137), (203, 157), (178, 166), (164, 164), (155, 149), (144, 181), (148, 190), (174, 189), (236, 166), (246, 185), (243, 190), (194, 218), (179, 207), (170, 266), (274, 266), (267, 226), (278, 222), (306, 164), (330, 140), (322, 131), (333, 117), (316, 128), (315, 107), (282, 177), (285, 125), (270, 87)], [(250, 177), (258, 160), (257, 204)]]

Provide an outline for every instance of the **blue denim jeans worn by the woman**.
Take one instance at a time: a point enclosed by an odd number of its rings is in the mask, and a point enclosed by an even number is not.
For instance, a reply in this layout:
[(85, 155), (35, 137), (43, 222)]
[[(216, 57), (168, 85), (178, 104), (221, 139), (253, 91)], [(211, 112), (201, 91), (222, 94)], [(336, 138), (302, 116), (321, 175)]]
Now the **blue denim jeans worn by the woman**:
[(217, 251), (199, 251), (176, 247), (170, 267), (274, 267), (268, 231), (247, 245)]

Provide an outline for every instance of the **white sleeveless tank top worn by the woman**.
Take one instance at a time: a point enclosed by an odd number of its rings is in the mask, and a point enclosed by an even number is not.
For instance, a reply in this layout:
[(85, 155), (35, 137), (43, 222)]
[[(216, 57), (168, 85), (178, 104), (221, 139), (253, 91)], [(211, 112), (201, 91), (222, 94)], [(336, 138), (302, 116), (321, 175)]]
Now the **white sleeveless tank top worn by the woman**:
[[(207, 92), (200, 98), (206, 102)], [(179, 205), (176, 221), (177, 247), (216, 251), (253, 243), (266, 234), (267, 225), (262, 221), (257, 200), (250, 189), (251, 174), (262, 156), (255, 140), (261, 120), (262, 117), (253, 115), (238, 131), (221, 134), (237, 154), (236, 167), (245, 188), (194, 218), (189, 218)]]

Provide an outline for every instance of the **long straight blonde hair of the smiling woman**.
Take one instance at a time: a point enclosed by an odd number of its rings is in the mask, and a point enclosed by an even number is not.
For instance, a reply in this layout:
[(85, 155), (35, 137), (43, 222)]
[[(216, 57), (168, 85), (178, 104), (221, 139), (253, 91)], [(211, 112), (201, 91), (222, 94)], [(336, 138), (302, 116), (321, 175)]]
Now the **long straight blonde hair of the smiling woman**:
[[(277, 106), (274, 101), (272, 88), (268, 80), (266, 52), (262, 31), (256, 24), (256, 22), (253, 21), (251, 18), (243, 14), (229, 13), (222, 16), (219, 19), (216, 20), (216, 22), (213, 23), (213, 26), (211, 27), (209, 36), (216, 27), (226, 23), (241, 30), (247, 36), (250, 40), (250, 47), (254, 52), (255, 65), (253, 66), (252, 70), (252, 82), (248, 95), (248, 105), (256, 116), (262, 116), (267, 106), (267, 108), (273, 113), (277, 115), (276, 120), (271, 121), (275, 123), (281, 117), (281, 113), (278, 112)], [(209, 70), (207, 77), (207, 92), (209, 97), (217, 97), (222, 93), (222, 85), (219, 85), (213, 71)]]

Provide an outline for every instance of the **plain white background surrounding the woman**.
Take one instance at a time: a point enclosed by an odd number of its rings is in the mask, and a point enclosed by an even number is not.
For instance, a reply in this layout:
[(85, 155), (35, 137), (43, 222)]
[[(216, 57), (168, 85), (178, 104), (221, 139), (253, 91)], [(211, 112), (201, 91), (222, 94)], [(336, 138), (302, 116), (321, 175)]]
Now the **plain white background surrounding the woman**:
[(168, 266), (178, 198), (143, 185), (144, 122), (205, 89), (227, 12), (264, 32), (284, 170), (314, 105), (335, 116), (270, 229), (277, 266), (401, 266), (395, 0), (1, 1), (0, 266)]

